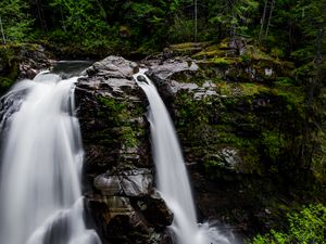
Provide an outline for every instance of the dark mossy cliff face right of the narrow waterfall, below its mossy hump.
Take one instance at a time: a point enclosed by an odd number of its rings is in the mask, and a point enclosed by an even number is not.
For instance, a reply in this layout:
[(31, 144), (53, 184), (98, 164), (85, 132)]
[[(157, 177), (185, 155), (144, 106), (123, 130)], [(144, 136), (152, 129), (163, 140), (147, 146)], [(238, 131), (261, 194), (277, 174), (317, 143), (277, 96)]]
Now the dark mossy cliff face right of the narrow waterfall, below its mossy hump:
[(238, 63), (170, 60), (149, 76), (168, 101), (200, 217), (250, 234), (277, 223), (299, 182), (303, 99), (275, 85), (276, 75), (265, 84), (230, 78), (233, 65), (248, 75)]

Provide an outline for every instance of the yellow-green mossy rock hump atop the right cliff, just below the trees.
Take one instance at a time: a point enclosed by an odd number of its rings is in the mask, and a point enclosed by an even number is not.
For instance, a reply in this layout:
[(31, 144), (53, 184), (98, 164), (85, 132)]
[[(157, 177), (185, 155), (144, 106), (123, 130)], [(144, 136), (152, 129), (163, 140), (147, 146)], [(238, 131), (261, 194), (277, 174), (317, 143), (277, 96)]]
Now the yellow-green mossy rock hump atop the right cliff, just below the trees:
[(273, 84), (278, 76), (289, 75), (290, 62), (266, 53), (243, 39), (225, 39), (192, 55), (198, 65), (211, 76), (237, 82)]

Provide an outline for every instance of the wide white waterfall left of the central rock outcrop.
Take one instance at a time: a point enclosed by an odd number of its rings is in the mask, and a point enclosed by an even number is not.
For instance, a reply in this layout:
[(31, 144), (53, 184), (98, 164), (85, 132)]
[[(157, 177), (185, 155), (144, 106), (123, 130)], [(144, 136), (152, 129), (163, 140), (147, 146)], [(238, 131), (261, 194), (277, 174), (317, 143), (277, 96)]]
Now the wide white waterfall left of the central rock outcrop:
[(74, 84), (40, 73), (2, 98), (1, 244), (100, 244), (84, 221)]

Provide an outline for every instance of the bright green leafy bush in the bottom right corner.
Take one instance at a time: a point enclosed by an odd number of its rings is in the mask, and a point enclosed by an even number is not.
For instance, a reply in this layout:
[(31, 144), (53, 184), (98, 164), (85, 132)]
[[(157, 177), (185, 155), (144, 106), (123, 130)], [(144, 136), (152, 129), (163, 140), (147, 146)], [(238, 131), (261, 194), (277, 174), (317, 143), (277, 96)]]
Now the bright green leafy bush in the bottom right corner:
[(288, 231), (272, 230), (265, 235), (258, 235), (252, 244), (322, 244), (326, 240), (326, 207), (322, 204), (310, 205), (298, 214), (288, 215)]

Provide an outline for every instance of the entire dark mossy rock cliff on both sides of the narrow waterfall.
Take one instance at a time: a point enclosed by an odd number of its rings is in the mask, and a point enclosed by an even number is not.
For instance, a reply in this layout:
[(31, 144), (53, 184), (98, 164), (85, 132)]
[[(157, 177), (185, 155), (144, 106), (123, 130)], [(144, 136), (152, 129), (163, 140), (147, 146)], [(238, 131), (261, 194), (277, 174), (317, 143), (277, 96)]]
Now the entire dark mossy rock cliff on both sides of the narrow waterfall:
[[(304, 94), (289, 78), (292, 64), (221, 44), (193, 59), (163, 55), (141, 65), (175, 121), (199, 219), (246, 235), (279, 226), (315, 177), (305, 164)], [(104, 243), (170, 242), (164, 230), (173, 215), (153, 189), (148, 102), (131, 79), (137, 69), (109, 56), (76, 88), (84, 191)]]

